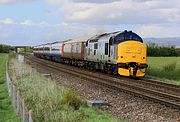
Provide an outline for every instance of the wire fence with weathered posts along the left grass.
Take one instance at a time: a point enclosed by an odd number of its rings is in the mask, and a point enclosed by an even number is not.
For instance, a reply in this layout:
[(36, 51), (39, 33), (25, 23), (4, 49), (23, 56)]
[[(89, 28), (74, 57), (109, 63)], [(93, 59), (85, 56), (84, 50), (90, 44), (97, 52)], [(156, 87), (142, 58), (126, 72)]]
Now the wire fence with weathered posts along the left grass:
[(13, 107), (17, 115), (21, 117), (22, 122), (33, 122), (33, 112), (32, 110), (27, 109), (24, 99), (21, 96), (20, 91), (17, 89), (17, 87), (13, 83), (8, 70), (9, 70), (9, 64), (7, 62), (6, 63), (6, 82), (7, 82), (9, 96), (11, 96), (12, 98)]

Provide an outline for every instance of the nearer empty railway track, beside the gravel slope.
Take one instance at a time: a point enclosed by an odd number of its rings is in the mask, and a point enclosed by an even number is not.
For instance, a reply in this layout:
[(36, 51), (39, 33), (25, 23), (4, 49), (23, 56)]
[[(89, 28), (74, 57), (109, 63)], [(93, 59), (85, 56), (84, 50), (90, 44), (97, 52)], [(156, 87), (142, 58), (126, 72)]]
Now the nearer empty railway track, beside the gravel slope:
[[(171, 106), (173, 108), (180, 109), (180, 96), (169, 94), (169, 93), (163, 93), (161, 91), (153, 90), (150, 88), (145, 88), (142, 86), (134, 85), (128, 82), (124, 81), (116, 81), (113, 79), (109, 79), (106, 76), (100, 77), (100, 75), (94, 75), (93, 73), (87, 72), (81, 72), (78, 70), (74, 70), (71, 68), (66, 67), (60, 67), (60, 65), (57, 65), (56, 63), (52, 63), (50, 61), (46, 61), (43, 59), (38, 58), (29, 58), (28, 56), (25, 57), (26, 59), (36, 62), (37, 64), (47, 66), (51, 69), (56, 69), (58, 71), (62, 71), (68, 74), (72, 74), (74, 76), (81, 77), (83, 79), (87, 79), (88, 81), (93, 81), (94, 83), (98, 83), (116, 90), (120, 90), (123, 92), (128, 92), (130, 94), (133, 94), (134, 96), (143, 97), (145, 99), (152, 100), (154, 102), (159, 102), (160, 104), (164, 104), (166, 106)], [(52, 65), (54, 64), (54, 65)], [(161, 85), (162, 86), (162, 85)]]

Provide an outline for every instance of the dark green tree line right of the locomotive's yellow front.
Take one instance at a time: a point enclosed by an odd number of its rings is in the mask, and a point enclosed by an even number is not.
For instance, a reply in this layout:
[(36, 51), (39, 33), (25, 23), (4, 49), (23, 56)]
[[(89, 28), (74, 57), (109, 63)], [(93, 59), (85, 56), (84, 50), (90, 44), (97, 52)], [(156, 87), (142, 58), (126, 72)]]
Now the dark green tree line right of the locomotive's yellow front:
[(147, 56), (180, 56), (180, 48), (175, 46), (159, 46), (153, 42), (147, 45)]

